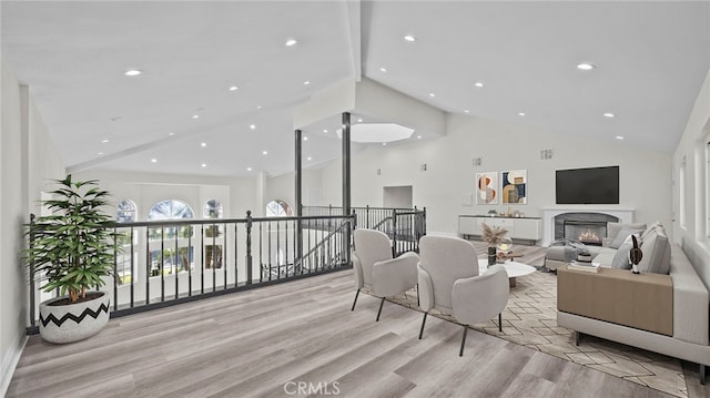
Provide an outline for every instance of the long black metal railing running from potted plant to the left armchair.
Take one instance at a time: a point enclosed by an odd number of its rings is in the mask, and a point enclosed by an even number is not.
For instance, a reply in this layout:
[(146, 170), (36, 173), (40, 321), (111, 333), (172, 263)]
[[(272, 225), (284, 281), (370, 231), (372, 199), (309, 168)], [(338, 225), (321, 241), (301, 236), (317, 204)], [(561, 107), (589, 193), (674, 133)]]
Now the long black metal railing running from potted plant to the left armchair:
[[(352, 266), (354, 216), (181, 220), (114, 224), (112, 317)], [(30, 236), (31, 238), (31, 236)], [(301, 239), (301, 242), (298, 242)], [(30, 245), (32, 242), (30, 241)], [(29, 333), (38, 303), (30, 268)]]

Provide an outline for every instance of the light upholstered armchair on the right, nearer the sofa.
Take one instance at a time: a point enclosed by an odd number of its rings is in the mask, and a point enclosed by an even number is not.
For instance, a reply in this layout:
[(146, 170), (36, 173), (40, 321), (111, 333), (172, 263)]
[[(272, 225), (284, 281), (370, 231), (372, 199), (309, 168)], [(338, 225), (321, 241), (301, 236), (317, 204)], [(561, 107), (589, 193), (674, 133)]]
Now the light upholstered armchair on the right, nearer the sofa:
[(510, 287), (508, 274), (501, 265), (478, 275), (478, 256), (474, 246), (450, 236), (422, 237), (419, 256), (419, 306), (425, 312), (419, 339), (432, 309), (453, 314), (464, 325), (459, 356), (464, 355), (468, 325), (498, 315), (498, 329), (503, 330), (500, 313), (508, 304)]

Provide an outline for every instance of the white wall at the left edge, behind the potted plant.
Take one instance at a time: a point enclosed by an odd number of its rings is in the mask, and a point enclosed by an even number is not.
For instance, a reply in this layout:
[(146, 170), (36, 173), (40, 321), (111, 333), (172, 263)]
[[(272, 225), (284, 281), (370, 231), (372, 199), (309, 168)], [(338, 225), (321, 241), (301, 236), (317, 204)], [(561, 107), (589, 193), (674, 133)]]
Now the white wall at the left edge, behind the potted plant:
[(20, 259), (27, 246), (23, 224), (37, 211), (42, 183), (61, 178), (64, 166), (31, 101), (3, 60), (0, 132), (0, 360), (4, 394), (26, 341), (28, 277)]

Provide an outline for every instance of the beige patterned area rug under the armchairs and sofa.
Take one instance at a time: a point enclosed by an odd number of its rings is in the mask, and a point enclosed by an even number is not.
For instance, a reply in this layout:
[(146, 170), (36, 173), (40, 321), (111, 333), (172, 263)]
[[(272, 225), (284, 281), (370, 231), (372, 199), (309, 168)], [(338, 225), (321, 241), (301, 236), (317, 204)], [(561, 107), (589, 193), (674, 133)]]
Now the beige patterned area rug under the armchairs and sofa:
[[(389, 300), (422, 310), (416, 297), (413, 290)], [(456, 323), (449, 315), (436, 310), (430, 314)], [(538, 271), (517, 278), (503, 313), (503, 331), (498, 331), (497, 318), (471, 328), (676, 397), (688, 397), (682, 367), (676, 358), (587, 335), (576, 346), (572, 330), (557, 326), (557, 276), (552, 273)]]

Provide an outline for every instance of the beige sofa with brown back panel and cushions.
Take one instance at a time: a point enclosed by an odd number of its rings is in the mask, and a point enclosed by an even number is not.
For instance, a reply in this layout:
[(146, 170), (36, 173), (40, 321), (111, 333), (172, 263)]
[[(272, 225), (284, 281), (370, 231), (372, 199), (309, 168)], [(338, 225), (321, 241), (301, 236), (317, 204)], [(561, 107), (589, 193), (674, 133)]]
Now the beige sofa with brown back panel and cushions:
[[(597, 251), (595, 261), (611, 256), (608, 247)], [(599, 258), (604, 252), (606, 257)], [(704, 384), (710, 296), (682, 248), (672, 245), (669, 252), (668, 275), (558, 266), (557, 324), (575, 330), (578, 344), (588, 334), (697, 363)]]

